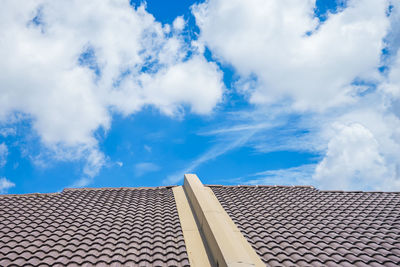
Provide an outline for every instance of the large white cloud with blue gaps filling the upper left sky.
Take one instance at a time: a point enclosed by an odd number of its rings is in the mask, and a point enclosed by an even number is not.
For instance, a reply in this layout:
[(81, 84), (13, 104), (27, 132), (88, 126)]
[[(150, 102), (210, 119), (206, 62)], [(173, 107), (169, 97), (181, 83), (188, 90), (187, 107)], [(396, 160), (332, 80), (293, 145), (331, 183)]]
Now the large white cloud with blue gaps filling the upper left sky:
[(27, 115), (50, 151), (87, 159), (94, 176), (106, 160), (94, 132), (109, 129), (112, 112), (206, 114), (220, 101), (221, 72), (183, 41), (184, 27), (127, 0), (3, 1), (0, 122)]

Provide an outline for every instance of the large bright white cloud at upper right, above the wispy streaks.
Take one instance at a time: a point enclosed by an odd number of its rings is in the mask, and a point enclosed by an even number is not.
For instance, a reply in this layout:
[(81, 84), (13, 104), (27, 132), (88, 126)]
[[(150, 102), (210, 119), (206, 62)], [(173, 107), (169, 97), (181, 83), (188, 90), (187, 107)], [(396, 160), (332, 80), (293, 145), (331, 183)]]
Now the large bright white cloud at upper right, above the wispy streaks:
[(380, 79), (388, 2), (347, 6), (324, 23), (314, 17), (313, 0), (210, 0), (193, 13), (213, 54), (242, 78), (256, 76), (251, 102), (288, 98), (297, 110), (325, 110), (354, 101), (355, 79)]

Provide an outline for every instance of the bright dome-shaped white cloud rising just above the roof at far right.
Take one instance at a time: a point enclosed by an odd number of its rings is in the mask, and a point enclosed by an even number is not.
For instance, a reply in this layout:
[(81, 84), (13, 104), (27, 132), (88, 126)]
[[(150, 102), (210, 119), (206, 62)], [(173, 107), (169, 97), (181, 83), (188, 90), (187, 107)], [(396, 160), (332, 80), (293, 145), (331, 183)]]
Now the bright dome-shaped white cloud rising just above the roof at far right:
[(363, 125), (336, 125), (325, 158), (314, 179), (322, 189), (399, 190), (400, 180), (390, 172), (378, 141)]

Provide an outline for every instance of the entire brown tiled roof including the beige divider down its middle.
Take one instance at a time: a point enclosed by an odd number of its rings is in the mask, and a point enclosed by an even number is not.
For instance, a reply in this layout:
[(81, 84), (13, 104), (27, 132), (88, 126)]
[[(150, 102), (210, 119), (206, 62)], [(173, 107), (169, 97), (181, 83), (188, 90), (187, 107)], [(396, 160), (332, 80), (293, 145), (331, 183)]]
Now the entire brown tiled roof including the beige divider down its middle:
[(0, 196), (0, 266), (260, 264), (400, 266), (400, 193), (185, 175), (183, 186)]

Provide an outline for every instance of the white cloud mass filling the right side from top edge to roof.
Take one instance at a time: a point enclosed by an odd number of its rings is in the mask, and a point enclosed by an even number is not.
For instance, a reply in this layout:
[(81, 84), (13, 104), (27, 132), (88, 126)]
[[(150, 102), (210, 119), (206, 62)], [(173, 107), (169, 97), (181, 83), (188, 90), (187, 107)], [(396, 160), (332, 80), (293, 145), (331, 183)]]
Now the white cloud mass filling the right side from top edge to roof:
[(308, 119), (312, 140), (300, 149), (322, 155), (308, 181), (399, 190), (399, 2), (348, 0), (326, 20), (315, 9), (315, 0), (209, 0), (192, 10), (199, 41), (235, 68), (238, 91)]

